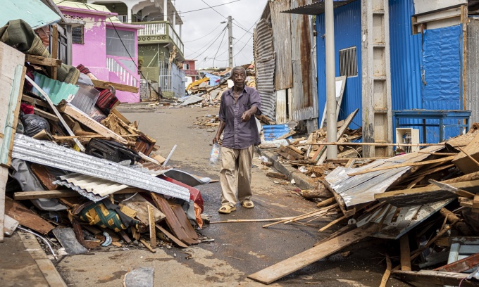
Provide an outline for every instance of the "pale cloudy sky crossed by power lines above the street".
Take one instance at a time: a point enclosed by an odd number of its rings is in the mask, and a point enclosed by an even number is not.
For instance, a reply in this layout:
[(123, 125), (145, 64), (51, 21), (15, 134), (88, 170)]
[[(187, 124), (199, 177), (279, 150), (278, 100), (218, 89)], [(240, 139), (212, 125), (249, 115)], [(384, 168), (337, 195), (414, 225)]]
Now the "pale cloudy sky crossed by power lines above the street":
[[(185, 58), (197, 59), (197, 69), (213, 67), (213, 62), (215, 67), (228, 66), (228, 29), (225, 29), (226, 23), (221, 24), (221, 22), (227, 22), (228, 15), (231, 15), (233, 18), (233, 64), (251, 63), (253, 30), (267, 1), (177, 0), (175, 6), (182, 13), (184, 23), (182, 40), (185, 44)], [(221, 4), (224, 5), (218, 6)], [(202, 8), (206, 9), (194, 11)]]

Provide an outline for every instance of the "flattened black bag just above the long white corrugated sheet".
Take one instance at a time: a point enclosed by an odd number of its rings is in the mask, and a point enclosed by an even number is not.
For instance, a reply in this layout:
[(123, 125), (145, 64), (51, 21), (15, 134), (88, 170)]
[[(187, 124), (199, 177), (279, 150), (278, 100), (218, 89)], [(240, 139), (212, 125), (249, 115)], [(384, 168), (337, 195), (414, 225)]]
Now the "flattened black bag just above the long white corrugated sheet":
[(116, 141), (106, 141), (104, 139), (91, 139), (87, 144), (85, 153), (97, 158), (111, 160), (113, 162), (131, 160), (130, 165), (133, 165), (135, 161), (142, 159), (136, 151), (132, 151), (130, 148), (127, 148)]

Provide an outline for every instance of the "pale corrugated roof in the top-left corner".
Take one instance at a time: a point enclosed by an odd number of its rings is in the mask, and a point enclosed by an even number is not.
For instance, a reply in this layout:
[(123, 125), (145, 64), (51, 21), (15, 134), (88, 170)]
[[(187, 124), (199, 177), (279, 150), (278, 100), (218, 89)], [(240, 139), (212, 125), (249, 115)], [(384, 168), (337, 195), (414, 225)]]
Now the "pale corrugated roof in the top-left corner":
[(0, 0), (0, 6), (3, 11), (0, 13), (0, 27), (10, 20), (22, 19), (35, 30), (61, 19), (40, 0)]

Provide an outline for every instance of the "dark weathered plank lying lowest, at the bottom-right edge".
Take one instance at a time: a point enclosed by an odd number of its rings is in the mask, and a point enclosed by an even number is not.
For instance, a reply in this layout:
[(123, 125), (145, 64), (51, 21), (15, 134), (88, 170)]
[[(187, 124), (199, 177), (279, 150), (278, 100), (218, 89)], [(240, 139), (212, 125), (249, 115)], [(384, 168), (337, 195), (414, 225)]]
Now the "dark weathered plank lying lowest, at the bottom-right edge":
[(427, 283), (435, 285), (449, 285), (461, 287), (479, 286), (477, 281), (469, 281), (466, 277), (469, 274), (439, 272), (432, 270), (421, 270), (420, 272), (412, 271), (395, 271), (392, 276), (397, 277), (406, 282)]

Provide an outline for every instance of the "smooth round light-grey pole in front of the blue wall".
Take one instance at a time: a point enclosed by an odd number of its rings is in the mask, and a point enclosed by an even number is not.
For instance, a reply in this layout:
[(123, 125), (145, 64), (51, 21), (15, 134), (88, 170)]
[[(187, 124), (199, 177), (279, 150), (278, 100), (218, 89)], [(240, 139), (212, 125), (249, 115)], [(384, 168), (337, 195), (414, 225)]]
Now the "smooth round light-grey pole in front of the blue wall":
[[(329, 142), (337, 141), (337, 116), (336, 116), (336, 77), (335, 77), (335, 23), (334, 7), (332, 0), (325, 0), (325, 26), (326, 26), (326, 114)], [(326, 150), (328, 159), (337, 158), (337, 146), (328, 146)]]

